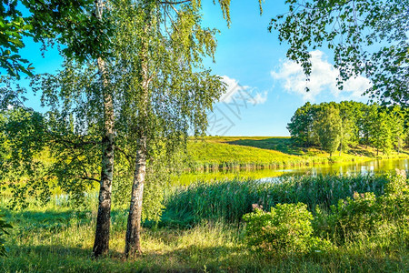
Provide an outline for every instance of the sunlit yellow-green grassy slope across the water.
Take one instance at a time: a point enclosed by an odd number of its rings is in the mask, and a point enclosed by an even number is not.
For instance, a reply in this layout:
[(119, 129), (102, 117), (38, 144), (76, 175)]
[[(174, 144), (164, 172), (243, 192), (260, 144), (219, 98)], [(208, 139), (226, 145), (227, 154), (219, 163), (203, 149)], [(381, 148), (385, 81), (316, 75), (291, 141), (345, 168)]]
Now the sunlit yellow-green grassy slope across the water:
[[(329, 154), (314, 148), (294, 147), (289, 137), (206, 136), (191, 139), (188, 151), (196, 168), (223, 167), (296, 167), (328, 163)], [(382, 155), (381, 158), (408, 157), (409, 151)], [(376, 157), (372, 147), (356, 147), (333, 156), (334, 162), (368, 160)]]

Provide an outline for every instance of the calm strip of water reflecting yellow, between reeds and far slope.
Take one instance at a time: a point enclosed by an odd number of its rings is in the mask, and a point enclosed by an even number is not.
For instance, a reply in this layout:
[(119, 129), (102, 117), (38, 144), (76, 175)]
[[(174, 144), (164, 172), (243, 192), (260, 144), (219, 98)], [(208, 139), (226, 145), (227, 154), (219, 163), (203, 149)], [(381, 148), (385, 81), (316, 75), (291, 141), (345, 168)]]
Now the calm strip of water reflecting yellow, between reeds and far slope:
[(289, 175), (341, 175), (354, 174), (380, 174), (394, 172), (394, 169), (409, 170), (409, 158), (371, 160), (364, 162), (353, 162), (344, 164), (320, 165), (315, 167), (299, 167), (287, 169), (259, 169), (259, 170), (220, 170), (208, 173), (185, 174), (175, 178), (175, 184), (188, 185), (197, 180), (211, 181), (219, 179), (232, 179), (234, 177), (248, 177), (254, 179), (268, 180), (273, 177)]

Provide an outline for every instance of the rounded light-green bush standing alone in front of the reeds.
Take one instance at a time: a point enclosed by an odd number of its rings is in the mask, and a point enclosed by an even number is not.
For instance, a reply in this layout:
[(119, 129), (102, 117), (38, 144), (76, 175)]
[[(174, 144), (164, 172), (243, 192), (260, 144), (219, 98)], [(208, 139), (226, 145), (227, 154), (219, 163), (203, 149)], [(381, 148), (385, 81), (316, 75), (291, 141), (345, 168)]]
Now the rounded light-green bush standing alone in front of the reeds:
[(303, 203), (277, 204), (271, 212), (255, 207), (243, 218), (247, 244), (256, 250), (291, 254), (331, 247), (328, 241), (312, 236), (313, 215)]

